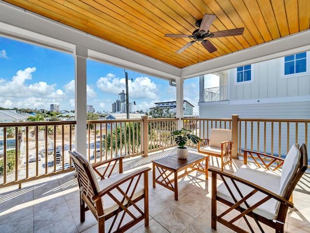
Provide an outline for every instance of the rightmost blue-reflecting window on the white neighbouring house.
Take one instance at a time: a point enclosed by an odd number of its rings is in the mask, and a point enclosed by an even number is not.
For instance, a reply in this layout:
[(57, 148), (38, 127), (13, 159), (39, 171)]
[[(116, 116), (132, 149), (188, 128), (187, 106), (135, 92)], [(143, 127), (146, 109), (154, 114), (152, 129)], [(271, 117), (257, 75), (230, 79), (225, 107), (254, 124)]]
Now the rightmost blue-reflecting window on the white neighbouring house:
[(307, 71), (307, 52), (301, 52), (284, 58), (284, 75)]

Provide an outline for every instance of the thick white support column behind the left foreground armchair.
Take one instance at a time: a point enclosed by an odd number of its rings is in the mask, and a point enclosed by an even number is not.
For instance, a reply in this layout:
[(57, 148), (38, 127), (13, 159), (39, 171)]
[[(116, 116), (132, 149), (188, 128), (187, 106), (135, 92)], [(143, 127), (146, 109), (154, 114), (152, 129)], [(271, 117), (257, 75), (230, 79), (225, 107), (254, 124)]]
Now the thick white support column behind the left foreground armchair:
[(86, 156), (86, 59), (88, 50), (85, 47), (75, 48), (75, 150)]

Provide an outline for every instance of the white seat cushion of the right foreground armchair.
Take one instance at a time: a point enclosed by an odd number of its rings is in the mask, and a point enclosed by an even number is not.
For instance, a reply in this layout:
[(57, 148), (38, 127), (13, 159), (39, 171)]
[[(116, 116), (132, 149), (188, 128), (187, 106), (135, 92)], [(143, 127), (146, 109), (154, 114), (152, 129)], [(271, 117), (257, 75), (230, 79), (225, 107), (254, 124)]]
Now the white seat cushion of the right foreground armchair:
[[(247, 180), (251, 183), (255, 183), (258, 186), (261, 186), (276, 194), (279, 193), (281, 177), (279, 176), (279, 173), (277, 172), (265, 170), (263, 168), (251, 169), (246, 166), (242, 166), (233, 175), (240, 177), (244, 180)], [(229, 187), (231, 188), (234, 197), (237, 200), (241, 200), (241, 197), (238, 194), (237, 190), (234, 188), (231, 180), (229, 180), (227, 183)], [(237, 182), (237, 186), (239, 187), (243, 196), (246, 196), (248, 193), (250, 193), (253, 190), (253, 188), (250, 188), (247, 185), (239, 183), (239, 182)], [(233, 198), (231, 197), (224, 183), (220, 184), (217, 187), (217, 196), (234, 203)], [(265, 194), (261, 192), (257, 192), (247, 200), (247, 203), (248, 205), (252, 206), (253, 204), (257, 203), (259, 200), (262, 200), (265, 197), (266, 197)], [(264, 202), (259, 207), (257, 207), (253, 212), (258, 215), (264, 216), (268, 219), (275, 219), (278, 214), (278, 205), (279, 205), (279, 201), (271, 199), (271, 200)], [(247, 209), (244, 203), (241, 204), (241, 207)]]

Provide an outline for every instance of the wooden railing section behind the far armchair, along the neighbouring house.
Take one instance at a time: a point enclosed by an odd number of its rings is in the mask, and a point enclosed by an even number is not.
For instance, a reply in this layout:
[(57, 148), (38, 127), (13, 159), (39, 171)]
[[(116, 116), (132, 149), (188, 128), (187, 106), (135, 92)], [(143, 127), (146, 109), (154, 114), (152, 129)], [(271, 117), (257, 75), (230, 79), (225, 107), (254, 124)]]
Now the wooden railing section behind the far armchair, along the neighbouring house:
[[(234, 157), (242, 149), (256, 150), (284, 158), (294, 143), (310, 147), (310, 119), (182, 118), (184, 127), (201, 138), (208, 138), (212, 128), (233, 130)], [(195, 145), (191, 145), (195, 146)]]

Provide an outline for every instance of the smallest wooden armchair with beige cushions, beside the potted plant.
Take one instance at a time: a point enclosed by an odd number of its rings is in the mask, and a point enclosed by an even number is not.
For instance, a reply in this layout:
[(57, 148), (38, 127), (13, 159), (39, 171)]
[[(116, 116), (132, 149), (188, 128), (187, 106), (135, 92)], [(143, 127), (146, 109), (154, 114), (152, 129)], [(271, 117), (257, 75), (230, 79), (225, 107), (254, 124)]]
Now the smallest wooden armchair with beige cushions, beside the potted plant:
[[(198, 152), (221, 158), (221, 170), (224, 166), (232, 166), (232, 131), (211, 129), (209, 139), (202, 138), (198, 144)], [(210, 161), (210, 159), (209, 159)]]

